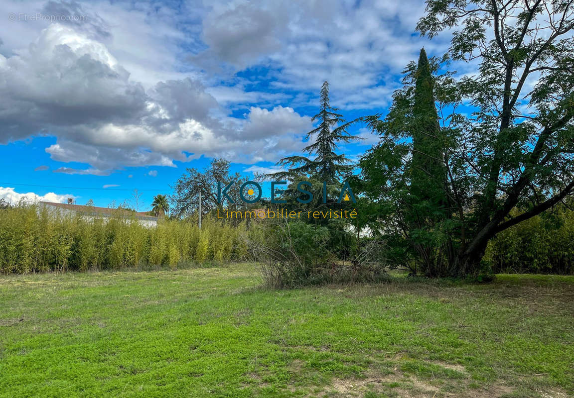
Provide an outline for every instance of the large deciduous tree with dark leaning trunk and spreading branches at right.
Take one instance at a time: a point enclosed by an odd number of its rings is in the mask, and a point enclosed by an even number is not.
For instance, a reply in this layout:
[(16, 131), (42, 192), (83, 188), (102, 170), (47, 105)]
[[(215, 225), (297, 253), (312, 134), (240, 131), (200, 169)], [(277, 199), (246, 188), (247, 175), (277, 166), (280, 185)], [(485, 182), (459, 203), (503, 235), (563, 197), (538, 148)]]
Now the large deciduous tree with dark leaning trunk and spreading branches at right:
[(573, 29), (572, 0), (427, 1), (418, 30), (453, 30), (448, 57), (465, 71), (440, 93), (456, 214), (449, 274), (478, 273), (492, 237), (572, 194)]

